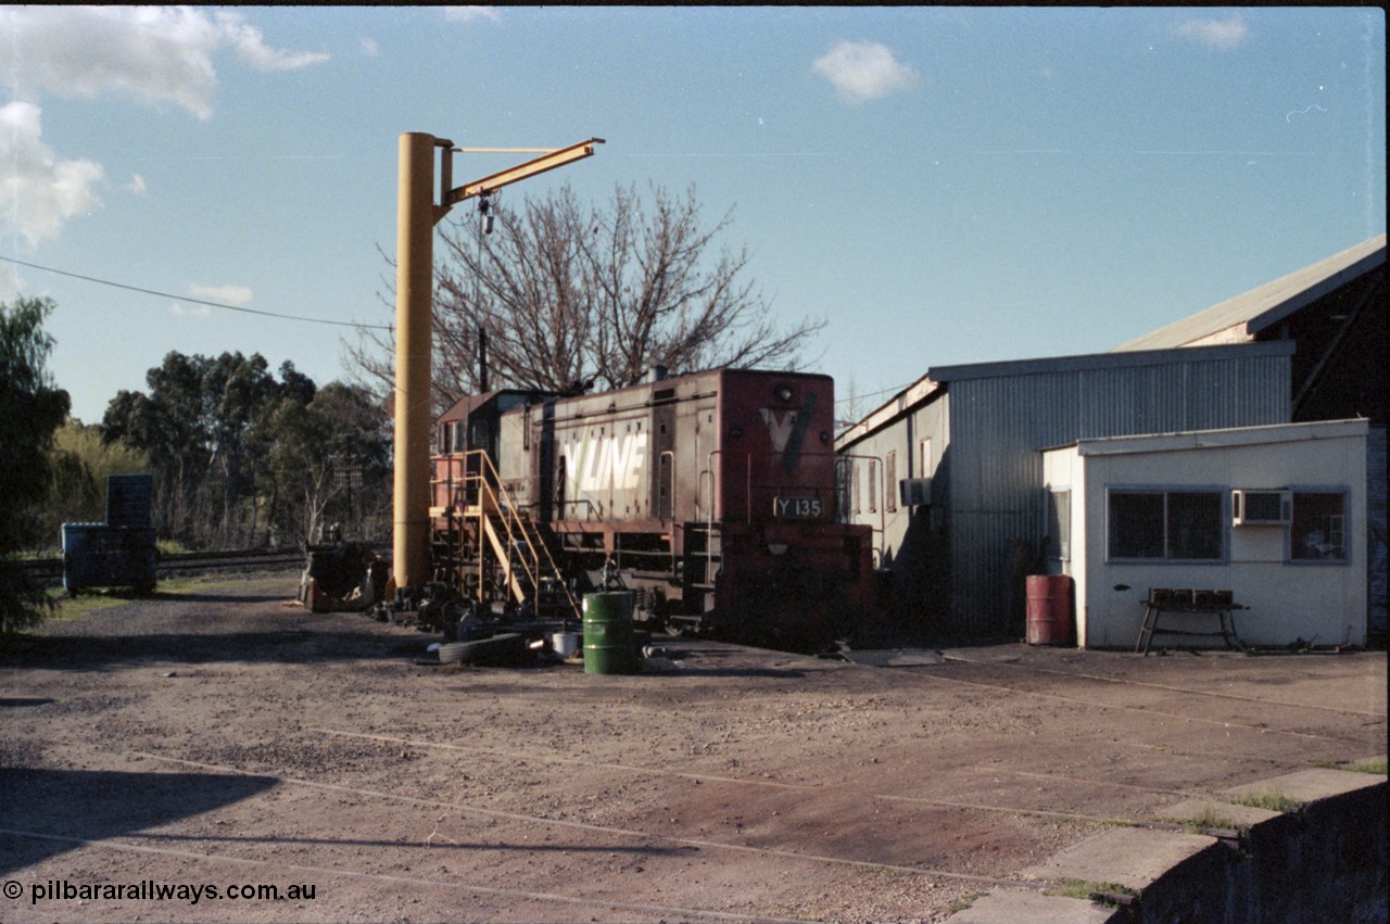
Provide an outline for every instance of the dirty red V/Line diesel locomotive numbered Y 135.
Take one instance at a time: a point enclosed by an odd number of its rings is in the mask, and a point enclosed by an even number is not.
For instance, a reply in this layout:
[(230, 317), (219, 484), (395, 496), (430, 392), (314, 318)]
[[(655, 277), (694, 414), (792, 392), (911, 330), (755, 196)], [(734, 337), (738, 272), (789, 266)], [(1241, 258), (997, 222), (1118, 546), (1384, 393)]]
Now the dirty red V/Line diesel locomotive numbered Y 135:
[[(872, 599), (872, 531), (835, 517), (833, 420), (828, 377), (749, 370), (463, 399), (436, 427), (436, 577), (486, 599), (517, 584), (518, 543), (545, 546), (537, 574), (617, 579), (641, 621), (824, 643)], [(524, 520), (510, 547), (486, 535), (503, 513)]]

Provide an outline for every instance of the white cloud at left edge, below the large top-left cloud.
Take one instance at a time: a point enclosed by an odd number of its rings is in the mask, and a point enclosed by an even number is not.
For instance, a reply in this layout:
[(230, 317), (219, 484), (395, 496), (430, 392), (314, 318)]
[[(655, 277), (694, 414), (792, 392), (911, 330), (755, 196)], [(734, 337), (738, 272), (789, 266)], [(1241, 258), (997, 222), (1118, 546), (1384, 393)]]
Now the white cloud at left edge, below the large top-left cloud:
[(31, 247), (57, 238), (63, 224), (101, 207), (96, 186), (106, 179), (100, 164), (58, 160), (40, 135), (42, 110), (33, 103), (0, 107), (0, 226)]

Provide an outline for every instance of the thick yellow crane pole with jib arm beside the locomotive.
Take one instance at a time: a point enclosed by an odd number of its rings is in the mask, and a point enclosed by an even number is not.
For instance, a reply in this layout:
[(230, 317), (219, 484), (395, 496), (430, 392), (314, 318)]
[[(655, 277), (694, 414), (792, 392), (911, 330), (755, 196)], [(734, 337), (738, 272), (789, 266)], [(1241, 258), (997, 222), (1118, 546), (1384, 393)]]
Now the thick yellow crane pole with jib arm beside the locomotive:
[[(434, 226), (449, 210), (556, 167), (589, 157), (602, 138), (559, 149), (457, 149), (453, 142), (406, 132), (400, 136), (396, 186), (396, 431), (392, 570), (398, 588), (430, 581), (430, 318), (434, 302)], [(439, 150), (435, 203), (434, 151)], [(452, 186), (455, 151), (543, 151), (463, 186)]]

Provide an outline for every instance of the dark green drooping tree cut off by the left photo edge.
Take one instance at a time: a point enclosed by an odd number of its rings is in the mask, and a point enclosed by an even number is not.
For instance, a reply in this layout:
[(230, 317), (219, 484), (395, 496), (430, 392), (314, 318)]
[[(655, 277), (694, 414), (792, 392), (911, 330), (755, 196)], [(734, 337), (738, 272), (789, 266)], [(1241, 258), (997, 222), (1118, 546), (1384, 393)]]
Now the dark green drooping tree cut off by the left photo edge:
[[(54, 307), (51, 299), (0, 303), (0, 559), (39, 538), (38, 513), (53, 479), (53, 434), (71, 409), (47, 370), (53, 338), (43, 322)], [(3, 632), (38, 624), (50, 607), (42, 588), (0, 567)]]

